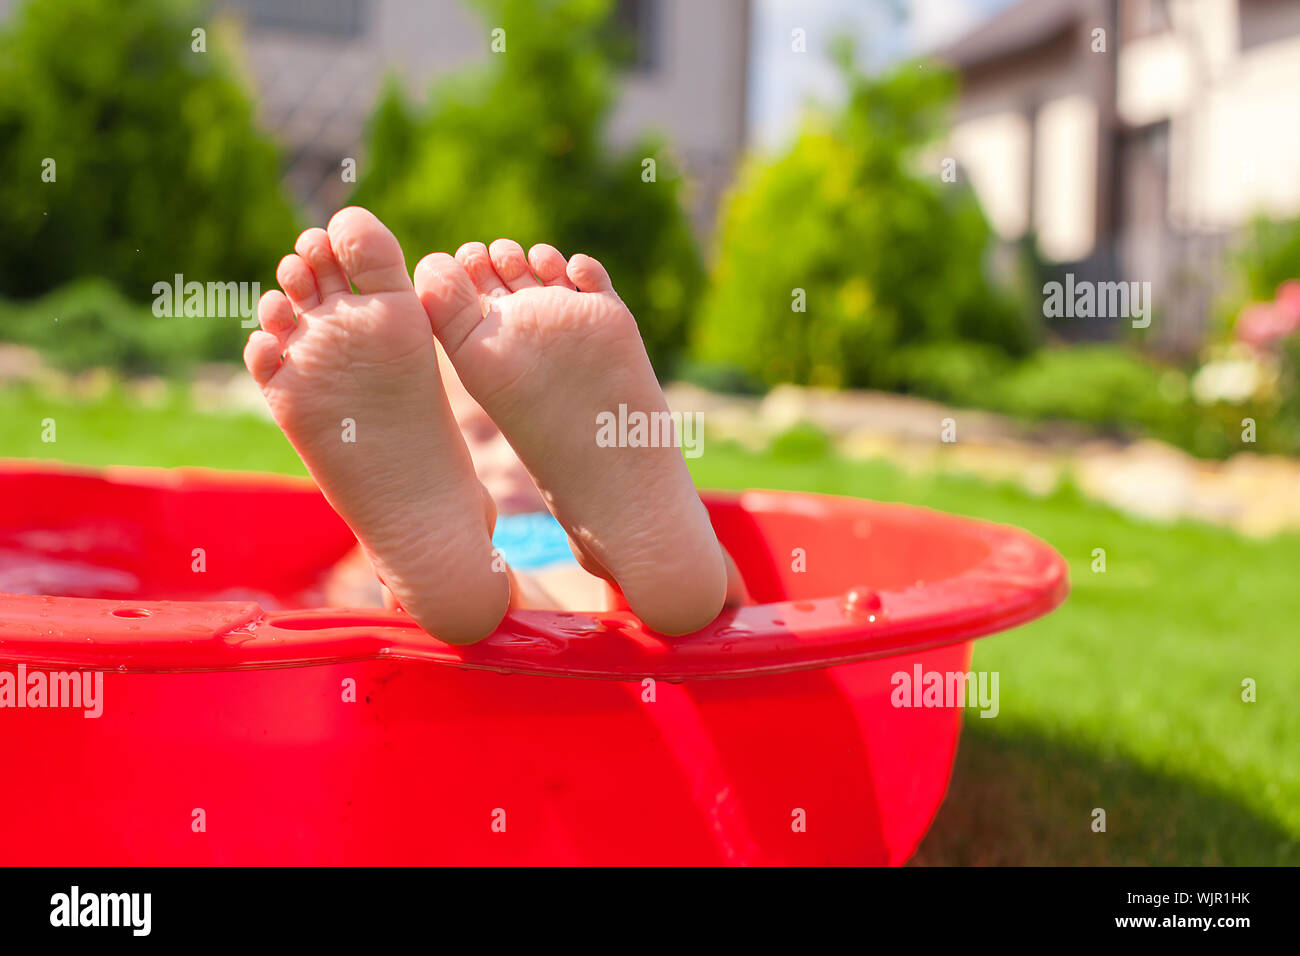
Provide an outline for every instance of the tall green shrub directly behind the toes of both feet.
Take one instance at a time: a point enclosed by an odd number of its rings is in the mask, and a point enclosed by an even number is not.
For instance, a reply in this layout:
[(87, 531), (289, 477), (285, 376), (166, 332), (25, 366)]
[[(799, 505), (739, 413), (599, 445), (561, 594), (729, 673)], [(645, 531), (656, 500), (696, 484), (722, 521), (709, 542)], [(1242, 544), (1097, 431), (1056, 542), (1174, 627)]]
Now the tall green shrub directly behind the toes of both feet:
[[(499, 237), (597, 256), (667, 373), (703, 269), (662, 144), (606, 143), (619, 59), (608, 3), (480, 5), (486, 25), (504, 29), (506, 53), (441, 82), (424, 111), (391, 85), (372, 117), (354, 202), (393, 228), (412, 267), (428, 252)], [(654, 182), (642, 179), (645, 159), (655, 160)]]

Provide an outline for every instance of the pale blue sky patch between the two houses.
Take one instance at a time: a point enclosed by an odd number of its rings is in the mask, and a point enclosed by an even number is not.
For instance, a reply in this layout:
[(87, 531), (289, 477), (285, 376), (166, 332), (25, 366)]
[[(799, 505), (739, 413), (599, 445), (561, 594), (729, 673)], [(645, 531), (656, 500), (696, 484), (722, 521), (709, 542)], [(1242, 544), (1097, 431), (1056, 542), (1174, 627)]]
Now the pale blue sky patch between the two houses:
[[(803, 104), (835, 103), (841, 85), (827, 56), (836, 35), (857, 42), (858, 59), (880, 66), (961, 36), (1011, 0), (754, 0), (749, 122), (753, 140), (777, 147), (797, 130)], [(806, 31), (807, 52), (790, 49)]]

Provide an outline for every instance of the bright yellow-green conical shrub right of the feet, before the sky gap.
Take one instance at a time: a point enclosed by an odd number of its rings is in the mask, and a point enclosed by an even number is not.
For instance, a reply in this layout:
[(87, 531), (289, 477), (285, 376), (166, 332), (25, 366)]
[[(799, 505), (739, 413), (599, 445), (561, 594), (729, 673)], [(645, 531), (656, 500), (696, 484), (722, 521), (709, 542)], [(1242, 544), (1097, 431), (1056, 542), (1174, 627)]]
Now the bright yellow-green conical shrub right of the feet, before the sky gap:
[[(775, 161), (751, 161), (722, 216), (699, 360), (767, 384), (893, 388), (900, 349), (978, 342), (1026, 354), (1035, 329), (984, 274), (991, 233), (965, 187), (916, 170), (952, 79), (852, 72), (849, 103)], [(901, 376), (901, 378), (900, 378)]]

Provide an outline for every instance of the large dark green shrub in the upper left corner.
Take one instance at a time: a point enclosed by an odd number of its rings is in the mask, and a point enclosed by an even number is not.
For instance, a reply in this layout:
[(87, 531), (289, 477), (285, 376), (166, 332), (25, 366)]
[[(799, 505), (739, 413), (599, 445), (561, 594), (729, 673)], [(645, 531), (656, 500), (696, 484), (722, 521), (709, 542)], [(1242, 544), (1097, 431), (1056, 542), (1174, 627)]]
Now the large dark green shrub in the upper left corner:
[(207, 7), (32, 0), (0, 34), (0, 294), (274, 278), (295, 217), (226, 44), (191, 48)]

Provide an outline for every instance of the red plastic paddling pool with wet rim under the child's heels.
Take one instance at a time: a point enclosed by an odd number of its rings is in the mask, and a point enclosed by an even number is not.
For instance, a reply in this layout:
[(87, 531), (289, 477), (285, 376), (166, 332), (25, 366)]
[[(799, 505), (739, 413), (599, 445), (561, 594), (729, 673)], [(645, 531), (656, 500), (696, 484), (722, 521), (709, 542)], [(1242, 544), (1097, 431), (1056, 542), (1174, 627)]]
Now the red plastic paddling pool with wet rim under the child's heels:
[(893, 706), (892, 675), (965, 671), (1063, 562), (898, 505), (706, 501), (759, 604), (455, 648), (317, 607), (354, 540), (309, 483), (0, 467), (0, 674), (104, 672), (98, 718), (0, 708), (0, 864), (905, 861), (961, 714)]

